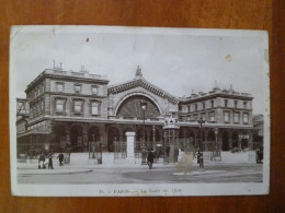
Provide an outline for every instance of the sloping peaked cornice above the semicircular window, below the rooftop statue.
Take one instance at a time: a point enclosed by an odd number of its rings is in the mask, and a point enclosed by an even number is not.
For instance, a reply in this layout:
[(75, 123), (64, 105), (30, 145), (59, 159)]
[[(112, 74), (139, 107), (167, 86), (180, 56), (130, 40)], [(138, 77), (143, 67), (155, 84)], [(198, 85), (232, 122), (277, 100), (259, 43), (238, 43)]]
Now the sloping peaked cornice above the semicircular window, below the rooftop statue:
[(133, 90), (135, 87), (142, 87), (147, 91), (149, 91), (152, 94), (156, 94), (162, 98), (167, 98), (169, 102), (173, 103), (173, 104), (178, 104), (179, 99), (169, 94), (168, 92), (159, 88), (158, 86), (153, 85), (152, 83), (148, 82), (147, 80), (145, 80), (144, 78), (137, 78), (134, 79), (132, 81), (127, 81), (121, 84), (116, 84), (116, 85), (111, 85), (107, 88), (107, 94), (118, 94), (118, 93), (123, 93), (125, 91), (128, 90)]

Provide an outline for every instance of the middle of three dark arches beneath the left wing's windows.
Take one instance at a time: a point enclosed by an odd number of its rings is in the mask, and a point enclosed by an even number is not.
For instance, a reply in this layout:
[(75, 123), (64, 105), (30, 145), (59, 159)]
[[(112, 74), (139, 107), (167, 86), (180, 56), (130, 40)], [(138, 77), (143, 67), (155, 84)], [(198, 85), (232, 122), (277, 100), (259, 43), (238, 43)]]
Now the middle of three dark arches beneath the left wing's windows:
[(70, 142), (72, 152), (83, 151), (83, 128), (79, 125), (71, 127), (70, 129)]

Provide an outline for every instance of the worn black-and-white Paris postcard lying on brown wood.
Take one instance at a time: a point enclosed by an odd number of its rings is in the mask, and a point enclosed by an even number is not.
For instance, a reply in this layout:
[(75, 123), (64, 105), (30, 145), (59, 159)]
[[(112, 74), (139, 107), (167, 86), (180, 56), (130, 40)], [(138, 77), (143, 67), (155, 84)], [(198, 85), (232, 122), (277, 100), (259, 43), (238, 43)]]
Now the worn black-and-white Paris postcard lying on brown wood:
[(13, 26), (14, 196), (267, 194), (263, 31)]

